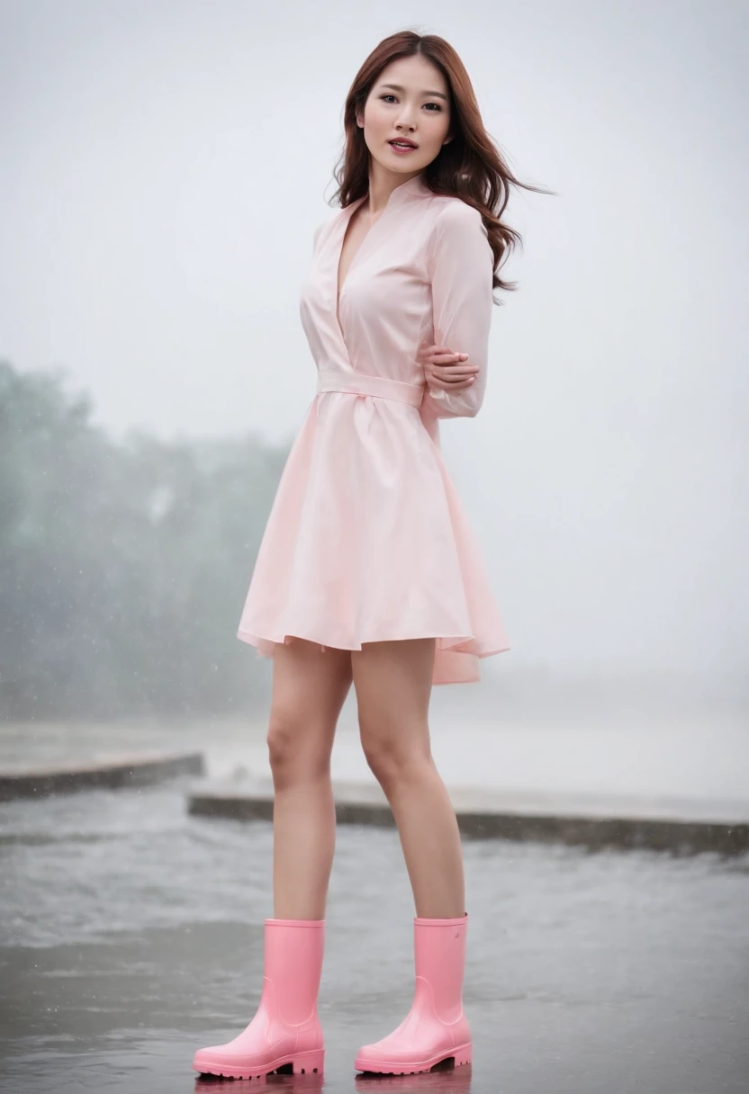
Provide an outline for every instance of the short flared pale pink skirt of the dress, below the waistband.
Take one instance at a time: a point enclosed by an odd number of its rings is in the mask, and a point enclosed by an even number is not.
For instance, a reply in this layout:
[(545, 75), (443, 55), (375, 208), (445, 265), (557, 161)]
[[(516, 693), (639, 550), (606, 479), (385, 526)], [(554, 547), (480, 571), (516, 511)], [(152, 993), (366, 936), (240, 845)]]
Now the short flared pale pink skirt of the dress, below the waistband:
[(319, 393), (291, 446), (238, 637), (272, 657), (435, 638), (433, 684), (509, 649), (462, 503), (416, 407)]

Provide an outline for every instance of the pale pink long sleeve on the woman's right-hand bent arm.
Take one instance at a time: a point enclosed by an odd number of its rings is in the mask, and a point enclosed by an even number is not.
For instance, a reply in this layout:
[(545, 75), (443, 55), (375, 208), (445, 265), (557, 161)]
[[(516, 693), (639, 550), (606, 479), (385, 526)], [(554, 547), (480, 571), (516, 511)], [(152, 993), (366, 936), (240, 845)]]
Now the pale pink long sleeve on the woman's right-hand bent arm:
[(494, 255), (481, 213), (456, 200), (440, 212), (429, 240), (435, 345), (468, 353), (479, 365), (471, 387), (451, 394), (438, 387), (424, 393), (422, 410), (435, 418), (474, 418), (486, 392), (488, 335), (492, 325)]

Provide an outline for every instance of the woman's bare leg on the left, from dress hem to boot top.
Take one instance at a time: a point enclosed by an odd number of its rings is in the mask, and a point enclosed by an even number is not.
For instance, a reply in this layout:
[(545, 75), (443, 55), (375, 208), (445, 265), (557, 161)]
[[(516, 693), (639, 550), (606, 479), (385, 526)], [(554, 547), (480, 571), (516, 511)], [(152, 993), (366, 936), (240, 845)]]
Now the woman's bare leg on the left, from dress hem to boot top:
[(335, 850), (331, 753), (350, 684), (350, 651), (321, 651), (301, 638), (276, 645), (268, 724), (275, 919), (325, 918)]

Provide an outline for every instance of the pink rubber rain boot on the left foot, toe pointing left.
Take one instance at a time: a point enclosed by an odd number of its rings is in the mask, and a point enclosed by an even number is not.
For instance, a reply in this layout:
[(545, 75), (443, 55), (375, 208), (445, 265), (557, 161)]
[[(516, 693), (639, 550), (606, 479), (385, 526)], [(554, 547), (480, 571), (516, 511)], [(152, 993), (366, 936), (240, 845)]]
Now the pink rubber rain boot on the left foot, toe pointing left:
[(260, 1006), (250, 1025), (226, 1045), (201, 1048), (193, 1069), (226, 1079), (260, 1079), (291, 1064), (322, 1074), (325, 1055), (318, 1019), (323, 919), (266, 919)]

